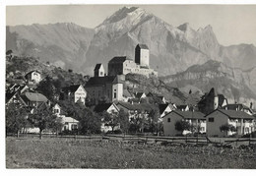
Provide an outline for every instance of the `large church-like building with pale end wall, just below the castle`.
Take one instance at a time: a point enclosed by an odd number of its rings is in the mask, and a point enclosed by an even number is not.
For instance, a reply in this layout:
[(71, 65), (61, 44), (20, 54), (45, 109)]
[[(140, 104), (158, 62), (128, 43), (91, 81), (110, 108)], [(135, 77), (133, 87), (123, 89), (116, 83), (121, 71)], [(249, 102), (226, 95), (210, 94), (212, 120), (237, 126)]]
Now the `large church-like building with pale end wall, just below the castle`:
[(122, 76), (92, 77), (85, 88), (88, 91), (90, 100), (94, 104), (98, 104), (100, 101), (113, 102), (123, 100), (123, 83), (124, 78)]

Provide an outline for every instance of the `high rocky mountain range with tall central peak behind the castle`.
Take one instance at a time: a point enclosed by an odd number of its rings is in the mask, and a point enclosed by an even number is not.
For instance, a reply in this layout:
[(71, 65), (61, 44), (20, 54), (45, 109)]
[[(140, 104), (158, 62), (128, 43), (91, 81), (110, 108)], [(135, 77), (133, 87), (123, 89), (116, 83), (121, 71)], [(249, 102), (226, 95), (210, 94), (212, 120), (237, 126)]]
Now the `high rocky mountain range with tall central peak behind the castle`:
[(256, 47), (251, 44), (223, 46), (211, 26), (192, 29), (186, 23), (173, 27), (137, 7), (118, 10), (96, 29), (72, 23), (7, 27), (7, 49), (89, 75), (96, 63), (103, 63), (107, 70), (114, 56), (134, 58), (138, 43), (149, 46), (150, 65), (160, 76), (209, 60), (243, 71), (256, 66)]

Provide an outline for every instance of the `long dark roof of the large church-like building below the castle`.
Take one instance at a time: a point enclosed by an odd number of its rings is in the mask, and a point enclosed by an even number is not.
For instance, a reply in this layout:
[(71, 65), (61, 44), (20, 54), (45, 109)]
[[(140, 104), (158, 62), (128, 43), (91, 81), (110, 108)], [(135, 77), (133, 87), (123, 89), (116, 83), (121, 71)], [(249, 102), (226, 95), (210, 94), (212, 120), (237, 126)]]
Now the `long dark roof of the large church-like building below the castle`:
[(87, 82), (86, 87), (102, 86), (102, 85), (105, 85), (105, 84), (112, 84), (112, 83), (114, 83), (114, 84), (122, 83), (122, 80), (118, 76), (92, 77)]

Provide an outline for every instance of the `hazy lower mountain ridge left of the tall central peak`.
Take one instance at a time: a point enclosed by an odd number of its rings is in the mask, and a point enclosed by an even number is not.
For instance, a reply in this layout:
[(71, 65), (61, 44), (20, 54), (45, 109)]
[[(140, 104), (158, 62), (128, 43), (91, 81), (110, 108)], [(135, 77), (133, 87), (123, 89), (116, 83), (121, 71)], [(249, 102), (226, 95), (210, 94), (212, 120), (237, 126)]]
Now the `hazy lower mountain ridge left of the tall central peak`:
[(79, 70), (93, 36), (94, 29), (72, 23), (7, 27), (6, 46), (17, 55), (39, 57), (62, 68)]

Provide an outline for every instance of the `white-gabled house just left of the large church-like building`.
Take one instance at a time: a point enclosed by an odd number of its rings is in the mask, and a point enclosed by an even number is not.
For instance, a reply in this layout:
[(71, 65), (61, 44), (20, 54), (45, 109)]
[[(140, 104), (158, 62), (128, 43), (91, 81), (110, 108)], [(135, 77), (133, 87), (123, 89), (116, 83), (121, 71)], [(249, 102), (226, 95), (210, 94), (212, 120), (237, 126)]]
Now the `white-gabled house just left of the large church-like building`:
[(82, 85), (73, 85), (62, 88), (61, 99), (69, 99), (74, 102), (86, 103), (87, 91)]

